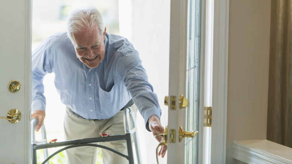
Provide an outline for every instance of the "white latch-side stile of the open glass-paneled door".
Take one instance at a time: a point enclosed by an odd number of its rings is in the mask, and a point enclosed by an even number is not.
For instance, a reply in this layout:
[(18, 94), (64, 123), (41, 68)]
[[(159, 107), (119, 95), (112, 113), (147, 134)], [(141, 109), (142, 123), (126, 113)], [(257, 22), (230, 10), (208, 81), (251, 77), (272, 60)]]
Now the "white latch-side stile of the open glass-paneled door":
[[(179, 95), (186, 93), (186, 49), (187, 49), (187, 0), (172, 0), (170, 3), (170, 43), (169, 43), (169, 99), (176, 96), (176, 110), (168, 111), (168, 134), (170, 129), (175, 129), (178, 134), (178, 126), (185, 130), (185, 110), (179, 109)], [(184, 143), (170, 143), (170, 135), (167, 135), (167, 163), (184, 163)]]

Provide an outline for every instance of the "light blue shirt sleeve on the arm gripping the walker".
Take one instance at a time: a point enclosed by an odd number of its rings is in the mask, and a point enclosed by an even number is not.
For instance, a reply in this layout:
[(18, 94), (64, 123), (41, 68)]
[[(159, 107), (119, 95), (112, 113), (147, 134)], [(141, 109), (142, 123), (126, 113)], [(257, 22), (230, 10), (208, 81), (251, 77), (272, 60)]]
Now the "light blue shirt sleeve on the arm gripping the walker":
[(46, 40), (32, 52), (32, 112), (45, 110), (46, 107), (43, 79), (47, 73), (52, 72), (49, 46)]

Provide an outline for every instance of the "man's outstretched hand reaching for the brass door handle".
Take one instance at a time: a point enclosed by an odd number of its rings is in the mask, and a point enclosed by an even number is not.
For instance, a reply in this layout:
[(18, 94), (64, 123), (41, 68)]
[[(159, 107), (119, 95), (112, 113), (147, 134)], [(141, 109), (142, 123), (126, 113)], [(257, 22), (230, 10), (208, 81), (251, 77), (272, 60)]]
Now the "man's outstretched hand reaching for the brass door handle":
[[(158, 136), (159, 134), (164, 133), (164, 127), (160, 123), (160, 119), (157, 117), (157, 115), (152, 115), (148, 119), (148, 125), (149, 129), (152, 131), (153, 136), (156, 138), (158, 142), (163, 142), (163, 137)], [(163, 158), (167, 150), (167, 145), (162, 145), (160, 151), (158, 152), (158, 155), (161, 155)]]

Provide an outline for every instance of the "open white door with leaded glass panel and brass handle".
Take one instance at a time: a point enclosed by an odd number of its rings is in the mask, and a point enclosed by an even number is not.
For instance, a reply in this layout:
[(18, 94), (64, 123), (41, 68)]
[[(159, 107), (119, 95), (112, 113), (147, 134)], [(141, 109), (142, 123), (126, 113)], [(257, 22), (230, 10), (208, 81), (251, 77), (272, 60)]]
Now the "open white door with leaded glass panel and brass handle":
[(198, 163), (200, 6), (195, 0), (171, 1), (168, 163)]

